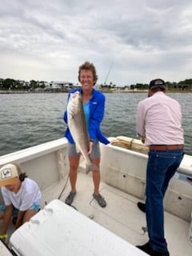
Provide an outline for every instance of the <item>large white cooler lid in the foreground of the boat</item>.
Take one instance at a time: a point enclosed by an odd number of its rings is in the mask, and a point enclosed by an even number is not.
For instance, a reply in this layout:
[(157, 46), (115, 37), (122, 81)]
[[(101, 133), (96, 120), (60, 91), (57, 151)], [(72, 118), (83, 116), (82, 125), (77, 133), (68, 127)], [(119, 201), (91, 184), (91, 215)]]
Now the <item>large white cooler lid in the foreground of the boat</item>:
[(21, 256), (146, 255), (57, 199), (12, 234), (10, 247)]

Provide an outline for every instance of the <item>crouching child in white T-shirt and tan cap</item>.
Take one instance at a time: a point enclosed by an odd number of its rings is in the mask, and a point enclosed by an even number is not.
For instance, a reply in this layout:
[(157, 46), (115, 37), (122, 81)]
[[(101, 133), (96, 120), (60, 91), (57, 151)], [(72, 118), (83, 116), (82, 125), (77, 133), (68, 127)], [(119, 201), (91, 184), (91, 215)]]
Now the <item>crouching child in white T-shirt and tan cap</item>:
[(4, 239), (11, 217), (15, 216), (16, 210), (18, 216), (15, 229), (37, 214), (42, 193), (38, 184), (27, 178), (26, 173), (22, 172), (21, 167), (15, 163), (6, 164), (0, 169), (0, 187), (5, 202), (5, 206), (0, 208), (0, 218), (2, 218), (0, 238)]

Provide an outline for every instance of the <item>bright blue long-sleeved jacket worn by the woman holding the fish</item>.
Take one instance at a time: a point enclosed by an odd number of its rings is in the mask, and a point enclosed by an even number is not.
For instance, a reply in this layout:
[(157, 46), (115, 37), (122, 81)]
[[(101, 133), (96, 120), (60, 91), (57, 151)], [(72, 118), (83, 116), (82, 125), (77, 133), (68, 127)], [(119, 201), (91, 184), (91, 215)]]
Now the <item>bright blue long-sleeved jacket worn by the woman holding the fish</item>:
[[(82, 93), (82, 89), (72, 90), (70, 94), (73, 94), (76, 91), (80, 91)], [(70, 98), (70, 94), (68, 95), (68, 100)], [(90, 127), (89, 127), (89, 134), (91, 139), (97, 138), (99, 142), (103, 144), (110, 143), (108, 139), (102, 134), (100, 130), (100, 124), (104, 117), (104, 110), (105, 110), (105, 102), (106, 98), (102, 92), (93, 89), (92, 97), (90, 98)], [(63, 116), (64, 121), (67, 123), (67, 113), (66, 110)], [(70, 134), (70, 130), (67, 127), (65, 137), (68, 139), (70, 143), (74, 143), (74, 139)]]

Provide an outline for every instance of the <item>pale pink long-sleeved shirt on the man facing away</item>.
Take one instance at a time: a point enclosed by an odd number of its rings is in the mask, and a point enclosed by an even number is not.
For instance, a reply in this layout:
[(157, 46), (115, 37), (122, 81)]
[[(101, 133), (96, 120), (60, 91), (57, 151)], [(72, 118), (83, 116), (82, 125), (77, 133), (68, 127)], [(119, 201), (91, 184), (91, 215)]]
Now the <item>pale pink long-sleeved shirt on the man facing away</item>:
[(136, 129), (149, 145), (184, 144), (180, 104), (162, 91), (138, 103)]

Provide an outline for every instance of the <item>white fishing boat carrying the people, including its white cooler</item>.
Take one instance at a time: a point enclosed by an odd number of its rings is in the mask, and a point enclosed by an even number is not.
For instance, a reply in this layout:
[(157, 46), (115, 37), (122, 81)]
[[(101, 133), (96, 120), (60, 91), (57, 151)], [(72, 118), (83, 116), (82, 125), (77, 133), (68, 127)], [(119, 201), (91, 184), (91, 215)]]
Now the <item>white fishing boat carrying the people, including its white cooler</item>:
[[(148, 148), (124, 136), (109, 140), (107, 146), (100, 144), (100, 191), (106, 208), (92, 196), (92, 177), (83, 158), (73, 205), (64, 203), (70, 192), (66, 138), (0, 157), (0, 167), (20, 164), (42, 190), (42, 210), (18, 230), (10, 226), (8, 247), (0, 242), (1, 255), (146, 255), (135, 246), (148, 241), (146, 216), (137, 206), (145, 200)], [(174, 256), (192, 254), (191, 178), (192, 156), (186, 154), (164, 199), (166, 240)]]

